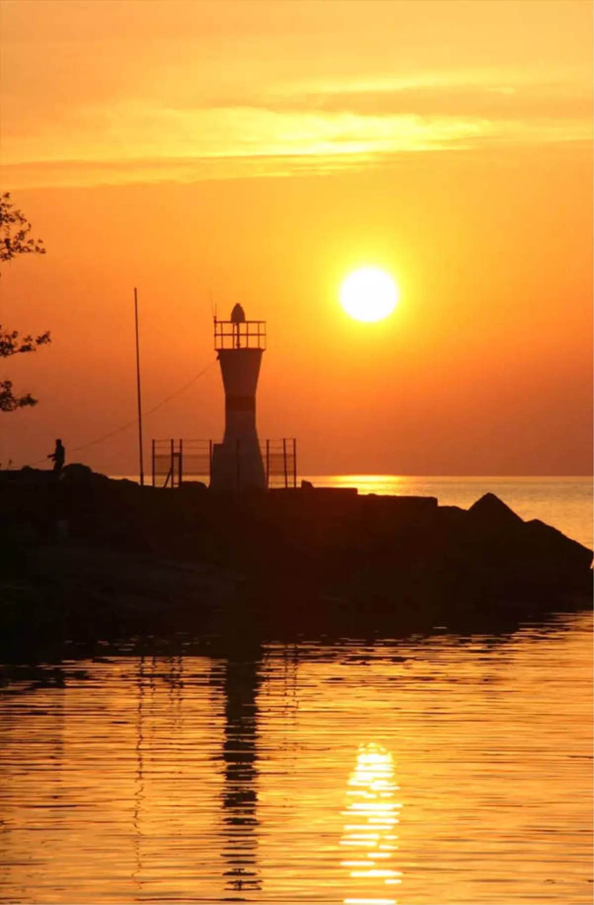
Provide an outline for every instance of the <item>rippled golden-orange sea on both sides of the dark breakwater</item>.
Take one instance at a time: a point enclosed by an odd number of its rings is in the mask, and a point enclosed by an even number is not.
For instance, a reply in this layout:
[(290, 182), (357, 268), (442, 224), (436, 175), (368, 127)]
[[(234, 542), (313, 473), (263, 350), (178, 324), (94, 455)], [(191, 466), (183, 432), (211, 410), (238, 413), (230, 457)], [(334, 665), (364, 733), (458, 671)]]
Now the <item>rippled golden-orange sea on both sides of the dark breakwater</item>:
[[(587, 478), (308, 480), (492, 491), (594, 548)], [(593, 642), (560, 612), (6, 674), (0, 902), (591, 905)]]

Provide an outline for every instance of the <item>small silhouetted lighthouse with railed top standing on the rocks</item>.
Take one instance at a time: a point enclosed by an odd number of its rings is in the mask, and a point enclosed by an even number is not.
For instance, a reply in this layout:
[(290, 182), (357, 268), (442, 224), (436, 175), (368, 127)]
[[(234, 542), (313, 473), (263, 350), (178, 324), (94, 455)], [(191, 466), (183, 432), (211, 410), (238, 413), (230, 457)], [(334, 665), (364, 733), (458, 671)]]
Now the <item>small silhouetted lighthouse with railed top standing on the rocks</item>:
[(266, 348), (266, 323), (246, 320), (235, 305), (229, 320), (215, 318), (216, 357), (225, 388), (225, 435), (213, 446), (210, 486), (215, 491), (266, 487), (255, 424), (255, 393)]

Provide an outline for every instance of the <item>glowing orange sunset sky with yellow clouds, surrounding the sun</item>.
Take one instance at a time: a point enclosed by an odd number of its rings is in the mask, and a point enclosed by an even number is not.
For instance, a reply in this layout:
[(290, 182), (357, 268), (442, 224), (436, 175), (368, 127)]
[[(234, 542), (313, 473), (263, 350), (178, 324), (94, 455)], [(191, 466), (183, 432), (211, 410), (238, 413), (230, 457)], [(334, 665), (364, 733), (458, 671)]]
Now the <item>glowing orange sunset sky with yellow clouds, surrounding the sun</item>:
[[(302, 473), (591, 474), (594, 5), (3, 0), (1, 186), (47, 253), (1, 321), (0, 462), (219, 440), (212, 315), (265, 319), (262, 439)], [(377, 266), (365, 324), (340, 282)], [(184, 392), (177, 393), (193, 377)], [(93, 445), (88, 445), (93, 443)], [(83, 447), (76, 452), (78, 447)]]

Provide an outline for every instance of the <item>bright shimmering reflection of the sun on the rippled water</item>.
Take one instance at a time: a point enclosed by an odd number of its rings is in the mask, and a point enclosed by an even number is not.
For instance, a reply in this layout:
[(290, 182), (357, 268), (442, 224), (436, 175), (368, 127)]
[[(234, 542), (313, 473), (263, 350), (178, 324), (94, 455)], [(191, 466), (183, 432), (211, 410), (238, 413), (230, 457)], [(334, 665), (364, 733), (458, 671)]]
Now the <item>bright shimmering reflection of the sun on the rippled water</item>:
[[(350, 873), (345, 905), (395, 905), (389, 895), (401, 882), (394, 869), (398, 850), (398, 814), (392, 755), (379, 745), (359, 748), (357, 764), (349, 779), (349, 804), (340, 846), (342, 867)], [(384, 891), (386, 894), (384, 895)]]

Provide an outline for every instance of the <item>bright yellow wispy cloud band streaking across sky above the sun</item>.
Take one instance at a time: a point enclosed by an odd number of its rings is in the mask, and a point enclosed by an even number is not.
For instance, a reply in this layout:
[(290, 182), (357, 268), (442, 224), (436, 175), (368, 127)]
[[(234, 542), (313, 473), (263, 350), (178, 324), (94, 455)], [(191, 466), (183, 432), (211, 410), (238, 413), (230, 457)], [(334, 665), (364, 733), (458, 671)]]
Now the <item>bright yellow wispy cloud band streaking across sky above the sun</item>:
[[(197, 110), (126, 101), (81, 111), (78, 122), (71, 119), (67, 136), (48, 128), (41, 136), (6, 140), (4, 181), (19, 187), (28, 180), (81, 185), (89, 179), (276, 176), (367, 167), (398, 153), (471, 153), (502, 144), (591, 138), (591, 121), (584, 115), (563, 117), (559, 108), (556, 115), (537, 115), (533, 108), (528, 116), (516, 104), (514, 118), (506, 106), (509, 96), (502, 97), (494, 97), (496, 115), (490, 116), (483, 104), (491, 99), (468, 90), (458, 92), (457, 100), (429, 90), (336, 92), (315, 96), (317, 108), (311, 96)], [(572, 112), (577, 109), (579, 104)]]

